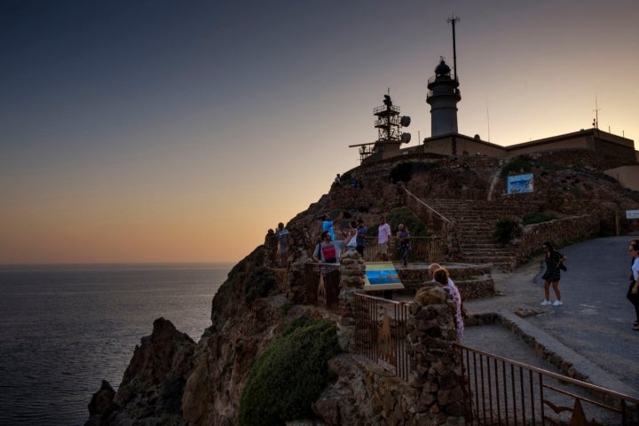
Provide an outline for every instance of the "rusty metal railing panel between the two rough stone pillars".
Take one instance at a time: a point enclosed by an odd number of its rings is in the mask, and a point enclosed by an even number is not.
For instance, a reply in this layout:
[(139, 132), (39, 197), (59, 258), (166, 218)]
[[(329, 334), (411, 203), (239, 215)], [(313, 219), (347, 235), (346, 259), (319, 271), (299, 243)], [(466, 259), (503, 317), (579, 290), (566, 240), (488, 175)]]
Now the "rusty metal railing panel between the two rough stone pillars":
[(411, 371), (406, 354), (408, 304), (358, 293), (353, 296), (356, 351), (407, 381)]

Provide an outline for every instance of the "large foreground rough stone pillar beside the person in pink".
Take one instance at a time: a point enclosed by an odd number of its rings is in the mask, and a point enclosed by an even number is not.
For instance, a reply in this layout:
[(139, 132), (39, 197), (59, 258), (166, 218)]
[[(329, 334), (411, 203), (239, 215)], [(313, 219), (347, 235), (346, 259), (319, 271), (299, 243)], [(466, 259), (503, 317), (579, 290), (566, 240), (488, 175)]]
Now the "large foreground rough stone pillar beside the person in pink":
[(411, 386), (417, 391), (418, 424), (462, 424), (464, 375), (454, 348), (453, 298), (444, 288), (420, 288), (408, 317), (406, 351), (414, 366)]

